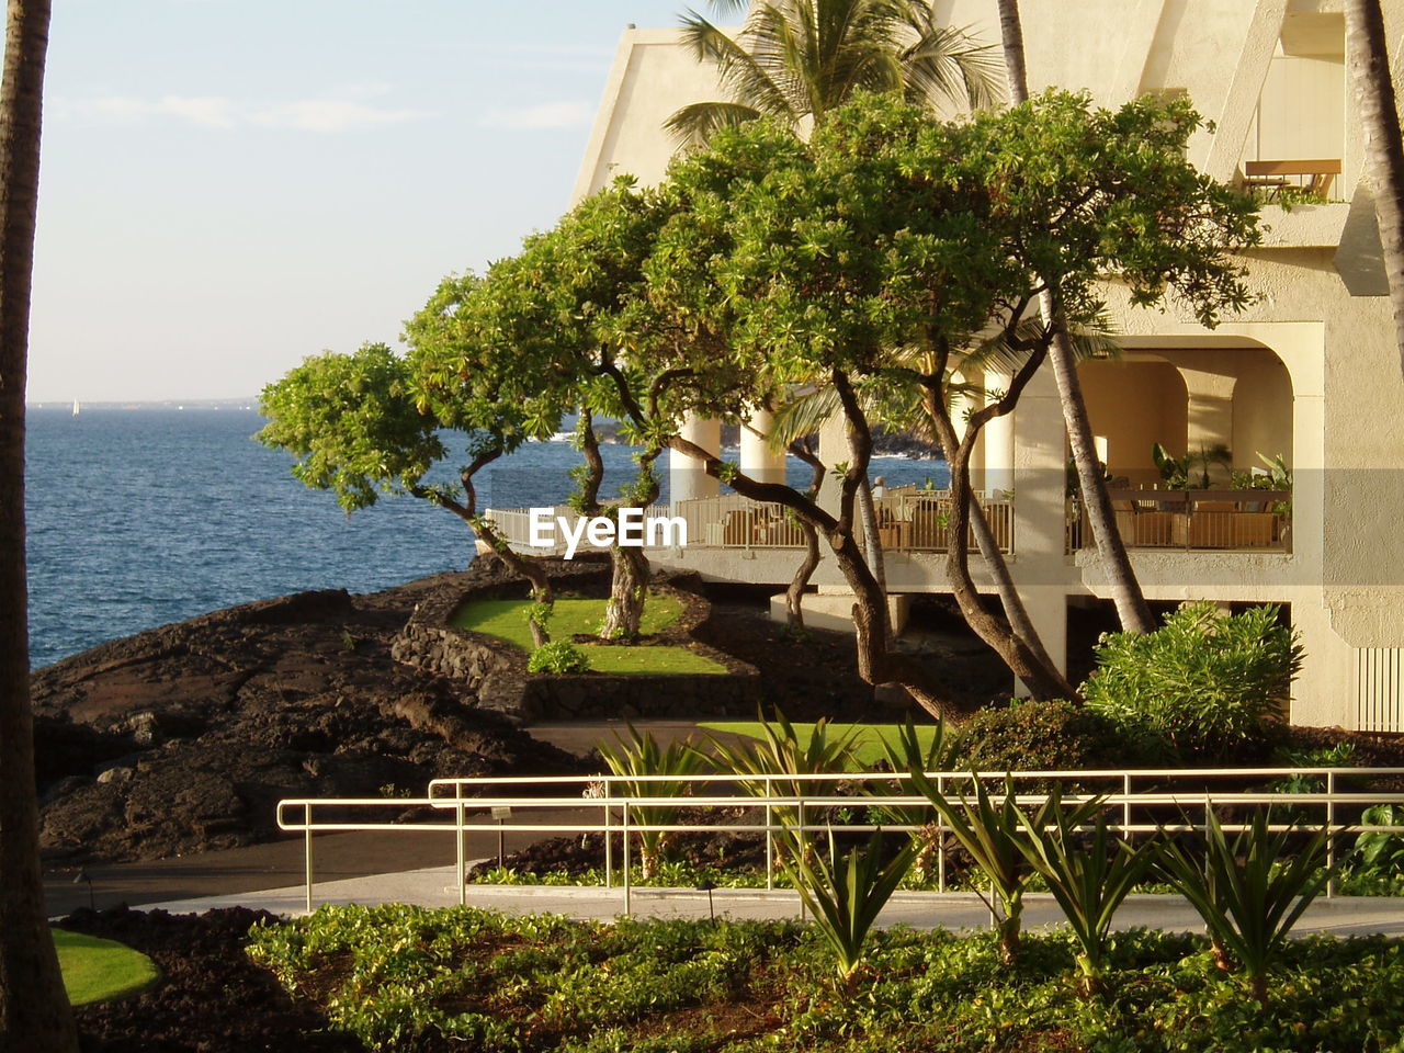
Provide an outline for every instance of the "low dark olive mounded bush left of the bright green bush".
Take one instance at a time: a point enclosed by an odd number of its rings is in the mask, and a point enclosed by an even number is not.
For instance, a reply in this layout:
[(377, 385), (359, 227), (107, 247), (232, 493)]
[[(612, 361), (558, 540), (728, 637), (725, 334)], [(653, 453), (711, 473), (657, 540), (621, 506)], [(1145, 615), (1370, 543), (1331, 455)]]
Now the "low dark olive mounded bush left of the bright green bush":
[(1116, 720), (1066, 699), (1015, 699), (981, 709), (960, 726), (956, 768), (1063, 771), (1165, 760), (1155, 741), (1139, 741)]

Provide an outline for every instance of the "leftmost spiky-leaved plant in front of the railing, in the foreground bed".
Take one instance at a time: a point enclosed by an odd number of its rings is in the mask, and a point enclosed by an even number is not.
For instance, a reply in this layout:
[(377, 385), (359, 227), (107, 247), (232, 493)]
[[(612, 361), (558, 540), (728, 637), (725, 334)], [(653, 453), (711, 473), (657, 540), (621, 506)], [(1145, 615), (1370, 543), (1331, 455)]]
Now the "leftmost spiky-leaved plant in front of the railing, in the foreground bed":
[(880, 833), (861, 848), (841, 851), (828, 831), (828, 851), (813, 849), (803, 831), (788, 831), (785, 873), (814, 915), (837, 958), (840, 983), (851, 990), (863, 962), (868, 934), (911, 869), (917, 845), (907, 840), (890, 854)]

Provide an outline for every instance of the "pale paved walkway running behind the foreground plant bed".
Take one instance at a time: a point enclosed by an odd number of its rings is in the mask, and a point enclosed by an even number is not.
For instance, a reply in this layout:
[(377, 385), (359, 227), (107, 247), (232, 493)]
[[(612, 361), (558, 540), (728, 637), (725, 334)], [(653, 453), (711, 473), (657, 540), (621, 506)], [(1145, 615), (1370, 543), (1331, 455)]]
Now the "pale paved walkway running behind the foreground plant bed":
[[(313, 886), (313, 906), (323, 903), (416, 903), (448, 907), (458, 903), (455, 868), (431, 866), (403, 873), (350, 878)], [(233, 896), (206, 896), (149, 904), (173, 913), (198, 913), (215, 907), (244, 906), (275, 914), (299, 915), (305, 910), (302, 885), (250, 892)], [(470, 885), (468, 901), (510, 914), (566, 914), (573, 918), (611, 920), (623, 914), (622, 889), (581, 889), (546, 886)], [(706, 918), (797, 918), (799, 899), (789, 890), (716, 889), (710, 904), (708, 893), (695, 889), (633, 889), (632, 910), (639, 917)], [(1057, 925), (1061, 921), (1052, 896), (1025, 897), (1025, 927)], [(979, 929), (988, 925), (990, 914), (974, 893), (900, 892), (882, 913), (879, 924), (913, 928)], [(1116, 928), (1163, 928), (1199, 932), (1203, 924), (1193, 908), (1178, 896), (1132, 896), (1116, 914)], [(1383, 932), (1404, 936), (1404, 899), (1367, 899), (1337, 896), (1318, 899), (1293, 929), (1297, 935), (1330, 932), (1353, 936)]]

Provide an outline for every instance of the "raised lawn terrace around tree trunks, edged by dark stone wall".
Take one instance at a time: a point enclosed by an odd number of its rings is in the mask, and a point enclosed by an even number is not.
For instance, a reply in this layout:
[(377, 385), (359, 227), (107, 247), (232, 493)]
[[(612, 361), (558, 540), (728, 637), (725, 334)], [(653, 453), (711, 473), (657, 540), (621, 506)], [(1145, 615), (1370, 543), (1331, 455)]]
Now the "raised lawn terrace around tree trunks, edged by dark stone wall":
[[(449, 619), (459, 629), (469, 629), (531, 651), (526, 626), (529, 600), (475, 600)], [(682, 614), (682, 601), (674, 595), (650, 595), (639, 629), (651, 635), (673, 625)], [(604, 600), (557, 600), (550, 618), (552, 639), (576, 633), (600, 632), (605, 616)], [(726, 667), (703, 654), (677, 646), (595, 646), (581, 644), (595, 673), (726, 673)]]

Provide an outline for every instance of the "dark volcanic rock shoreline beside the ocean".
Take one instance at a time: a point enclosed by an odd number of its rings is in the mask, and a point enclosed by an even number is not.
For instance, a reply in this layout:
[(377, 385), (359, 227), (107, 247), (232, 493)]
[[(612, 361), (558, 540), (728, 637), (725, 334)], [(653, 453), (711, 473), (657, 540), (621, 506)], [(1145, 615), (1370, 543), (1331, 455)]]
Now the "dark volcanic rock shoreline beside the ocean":
[(152, 859), (275, 835), (292, 796), (420, 795), (439, 775), (577, 761), (476, 708), (389, 644), (438, 590), (496, 560), (368, 597), (302, 592), (94, 647), (34, 674), (51, 861)]

